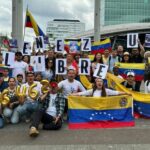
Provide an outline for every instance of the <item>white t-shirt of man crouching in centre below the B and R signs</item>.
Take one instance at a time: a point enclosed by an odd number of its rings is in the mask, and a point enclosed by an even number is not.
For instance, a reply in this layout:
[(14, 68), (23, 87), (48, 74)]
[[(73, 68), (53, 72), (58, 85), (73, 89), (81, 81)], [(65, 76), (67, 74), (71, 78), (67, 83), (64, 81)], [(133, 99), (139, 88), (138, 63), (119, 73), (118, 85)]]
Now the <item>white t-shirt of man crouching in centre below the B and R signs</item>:
[(63, 94), (64, 94), (65, 98), (67, 98), (67, 96), (71, 93), (77, 93), (79, 91), (81, 91), (81, 92), (85, 91), (85, 88), (83, 87), (83, 85), (75, 79), (73, 82), (69, 82), (68, 79), (63, 80), (63, 81), (59, 82), (58, 87), (60, 89), (63, 89)]

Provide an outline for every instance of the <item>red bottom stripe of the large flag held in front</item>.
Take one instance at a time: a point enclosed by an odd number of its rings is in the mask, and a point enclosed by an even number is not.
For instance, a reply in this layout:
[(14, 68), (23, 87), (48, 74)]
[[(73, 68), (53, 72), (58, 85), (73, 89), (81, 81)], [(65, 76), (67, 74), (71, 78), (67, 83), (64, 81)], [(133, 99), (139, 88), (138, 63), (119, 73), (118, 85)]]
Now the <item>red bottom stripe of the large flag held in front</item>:
[(130, 122), (96, 121), (88, 123), (69, 123), (69, 129), (122, 128), (133, 126), (135, 126), (134, 121)]

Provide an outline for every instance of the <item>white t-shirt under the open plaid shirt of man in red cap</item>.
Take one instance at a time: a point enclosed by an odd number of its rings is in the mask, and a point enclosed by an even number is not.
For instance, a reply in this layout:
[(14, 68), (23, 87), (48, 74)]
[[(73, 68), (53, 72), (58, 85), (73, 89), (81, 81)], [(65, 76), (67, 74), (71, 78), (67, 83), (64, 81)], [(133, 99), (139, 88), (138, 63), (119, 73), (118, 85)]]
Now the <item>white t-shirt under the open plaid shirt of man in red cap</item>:
[(56, 105), (55, 105), (56, 96), (57, 96), (57, 94), (50, 95), (49, 106), (46, 110), (46, 113), (53, 117), (56, 117), (56, 115), (57, 115), (57, 110), (56, 110)]

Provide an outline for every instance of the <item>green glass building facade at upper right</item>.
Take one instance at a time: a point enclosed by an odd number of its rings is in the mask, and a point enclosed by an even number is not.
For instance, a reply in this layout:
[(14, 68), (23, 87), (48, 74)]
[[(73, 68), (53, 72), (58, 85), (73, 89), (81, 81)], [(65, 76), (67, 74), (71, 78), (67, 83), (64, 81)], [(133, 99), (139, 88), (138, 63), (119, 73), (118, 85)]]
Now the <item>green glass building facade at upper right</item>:
[(102, 24), (150, 22), (150, 0), (102, 0)]

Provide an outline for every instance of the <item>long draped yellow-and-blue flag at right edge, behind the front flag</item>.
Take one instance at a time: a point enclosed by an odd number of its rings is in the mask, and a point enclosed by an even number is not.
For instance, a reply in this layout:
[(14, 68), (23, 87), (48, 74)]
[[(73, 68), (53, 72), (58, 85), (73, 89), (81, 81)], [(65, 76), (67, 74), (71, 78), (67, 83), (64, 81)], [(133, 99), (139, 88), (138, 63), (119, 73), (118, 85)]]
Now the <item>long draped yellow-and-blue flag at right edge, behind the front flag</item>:
[(110, 87), (113, 86), (115, 90), (131, 93), (134, 99), (134, 112), (140, 114), (140, 116), (150, 118), (150, 94), (131, 91), (130, 89), (127, 89), (121, 85), (119, 80), (113, 76), (114, 75), (107, 73), (107, 80), (113, 83), (113, 85), (109, 84)]

